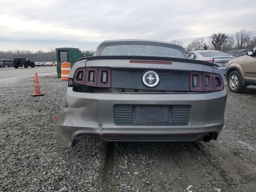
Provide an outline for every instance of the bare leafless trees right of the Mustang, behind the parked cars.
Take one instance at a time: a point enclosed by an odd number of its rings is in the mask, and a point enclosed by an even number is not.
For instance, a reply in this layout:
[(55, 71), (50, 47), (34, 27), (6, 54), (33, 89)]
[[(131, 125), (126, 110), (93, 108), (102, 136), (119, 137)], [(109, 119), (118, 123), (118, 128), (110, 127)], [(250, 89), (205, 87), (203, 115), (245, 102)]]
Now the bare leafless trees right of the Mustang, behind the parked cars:
[[(172, 40), (171, 43), (183, 46), (180, 40)], [(197, 38), (185, 48), (186, 51), (194, 50), (219, 50), (228, 52), (230, 50), (253, 49), (256, 47), (256, 34), (242, 29), (235, 34), (213, 33), (208, 38)]]

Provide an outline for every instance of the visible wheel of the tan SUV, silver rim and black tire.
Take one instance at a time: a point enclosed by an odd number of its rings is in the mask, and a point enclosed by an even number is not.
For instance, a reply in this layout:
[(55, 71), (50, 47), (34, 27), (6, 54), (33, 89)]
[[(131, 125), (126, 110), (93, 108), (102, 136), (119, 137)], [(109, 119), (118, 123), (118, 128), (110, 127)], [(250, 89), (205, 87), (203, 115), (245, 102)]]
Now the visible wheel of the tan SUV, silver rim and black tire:
[(242, 78), (238, 71), (232, 71), (228, 75), (228, 88), (235, 93), (243, 93), (246, 86), (243, 86)]

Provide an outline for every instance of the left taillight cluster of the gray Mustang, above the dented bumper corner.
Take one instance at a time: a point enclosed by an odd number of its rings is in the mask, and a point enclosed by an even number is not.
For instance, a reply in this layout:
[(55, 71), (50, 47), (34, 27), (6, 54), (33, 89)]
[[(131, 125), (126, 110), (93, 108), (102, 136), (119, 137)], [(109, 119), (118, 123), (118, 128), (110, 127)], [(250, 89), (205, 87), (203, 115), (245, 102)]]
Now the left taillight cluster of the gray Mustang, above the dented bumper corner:
[(110, 68), (80, 68), (75, 72), (74, 83), (87, 86), (110, 87), (111, 70)]

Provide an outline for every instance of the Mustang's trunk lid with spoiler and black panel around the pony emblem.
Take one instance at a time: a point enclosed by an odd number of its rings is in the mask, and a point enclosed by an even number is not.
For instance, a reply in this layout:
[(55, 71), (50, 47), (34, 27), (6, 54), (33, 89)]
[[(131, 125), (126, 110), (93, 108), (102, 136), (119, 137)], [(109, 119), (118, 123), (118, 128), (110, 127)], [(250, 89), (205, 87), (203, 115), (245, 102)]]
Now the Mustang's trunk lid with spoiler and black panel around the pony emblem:
[[(113, 92), (118, 92), (117, 90), (120, 89), (124, 91), (119, 92), (188, 92), (190, 91), (190, 72), (213, 73), (213, 66), (217, 65), (180, 58), (94, 56), (77, 62), (73, 66), (69, 78), (73, 78), (74, 71), (80, 67), (92, 70), (95, 68), (109, 68), (111, 71), (110, 88), (116, 88), (116, 91)], [(156, 86), (150, 87), (145, 84), (143, 76), (146, 72), (157, 74), (159, 83)], [(156, 77), (153, 77), (152, 81), (154, 81), (154, 78)], [(144, 79), (149, 82), (150, 76)]]

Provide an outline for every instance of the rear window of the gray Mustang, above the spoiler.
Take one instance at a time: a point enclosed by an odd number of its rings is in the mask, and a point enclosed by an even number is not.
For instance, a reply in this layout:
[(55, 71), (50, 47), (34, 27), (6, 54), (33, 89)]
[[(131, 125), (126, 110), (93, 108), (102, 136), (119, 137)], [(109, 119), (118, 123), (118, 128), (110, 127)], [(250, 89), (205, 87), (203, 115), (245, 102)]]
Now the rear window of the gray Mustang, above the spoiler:
[(152, 45), (114, 45), (106, 46), (100, 53), (102, 56), (156, 56), (186, 58), (184, 54), (174, 48)]

